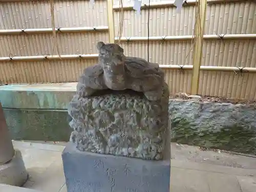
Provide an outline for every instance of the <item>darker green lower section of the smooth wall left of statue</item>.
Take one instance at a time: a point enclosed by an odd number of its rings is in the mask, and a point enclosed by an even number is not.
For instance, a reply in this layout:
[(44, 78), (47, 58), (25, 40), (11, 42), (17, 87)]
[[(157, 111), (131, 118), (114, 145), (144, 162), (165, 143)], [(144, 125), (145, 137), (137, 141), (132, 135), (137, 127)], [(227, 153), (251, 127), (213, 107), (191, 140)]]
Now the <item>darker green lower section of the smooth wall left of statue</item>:
[(69, 141), (71, 118), (65, 110), (4, 109), (12, 139)]

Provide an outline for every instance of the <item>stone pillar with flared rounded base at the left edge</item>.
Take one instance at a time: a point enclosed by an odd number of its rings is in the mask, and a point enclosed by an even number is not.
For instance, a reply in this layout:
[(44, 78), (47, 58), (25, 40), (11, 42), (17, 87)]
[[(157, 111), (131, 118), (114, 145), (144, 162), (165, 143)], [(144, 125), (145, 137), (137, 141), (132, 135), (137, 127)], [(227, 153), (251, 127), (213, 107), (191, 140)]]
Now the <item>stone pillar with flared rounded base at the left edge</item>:
[(22, 154), (13, 148), (0, 103), (0, 183), (22, 186), (27, 179)]

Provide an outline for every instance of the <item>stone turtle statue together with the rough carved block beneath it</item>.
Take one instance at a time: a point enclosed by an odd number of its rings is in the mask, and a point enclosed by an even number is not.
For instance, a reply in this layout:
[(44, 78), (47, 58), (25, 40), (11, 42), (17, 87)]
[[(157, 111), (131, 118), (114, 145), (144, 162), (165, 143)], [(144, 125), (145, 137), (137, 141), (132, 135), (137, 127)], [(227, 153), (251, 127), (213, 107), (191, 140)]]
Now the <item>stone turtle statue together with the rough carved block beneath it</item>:
[(162, 159), (169, 96), (163, 71), (126, 57), (117, 44), (97, 48), (98, 64), (83, 71), (68, 109), (71, 141), (80, 151)]

